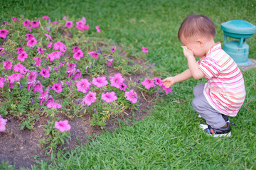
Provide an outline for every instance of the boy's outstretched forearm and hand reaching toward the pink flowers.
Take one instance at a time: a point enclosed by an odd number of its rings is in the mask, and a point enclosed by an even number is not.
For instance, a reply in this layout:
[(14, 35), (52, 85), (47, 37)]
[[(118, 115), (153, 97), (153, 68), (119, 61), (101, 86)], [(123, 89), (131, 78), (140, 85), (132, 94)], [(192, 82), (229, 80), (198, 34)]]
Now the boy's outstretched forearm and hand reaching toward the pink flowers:
[(173, 86), (174, 84), (180, 81), (189, 79), (191, 77), (192, 77), (191, 72), (189, 71), (189, 69), (186, 69), (184, 72), (176, 75), (175, 77), (167, 77), (166, 79), (163, 80), (163, 84), (166, 88), (169, 88), (170, 86)]

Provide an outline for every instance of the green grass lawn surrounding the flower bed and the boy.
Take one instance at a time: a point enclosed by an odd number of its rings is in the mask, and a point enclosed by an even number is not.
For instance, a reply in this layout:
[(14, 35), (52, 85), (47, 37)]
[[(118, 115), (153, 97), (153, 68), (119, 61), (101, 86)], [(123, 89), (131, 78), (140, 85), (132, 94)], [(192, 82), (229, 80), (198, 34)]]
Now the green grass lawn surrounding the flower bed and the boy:
[[(186, 69), (178, 28), (191, 13), (213, 19), (216, 42), (223, 42), (220, 23), (243, 19), (256, 25), (256, 1), (4, 1), (0, 21), (11, 17), (87, 18), (92, 29), (122, 45), (129, 55), (148, 47), (148, 60), (161, 77)], [(256, 59), (256, 37), (247, 40)], [(243, 72), (247, 96), (238, 116), (231, 118), (233, 135), (209, 137), (193, 111), (193, 86), (205, 79), (174, 85), (174, 93), (157, 101), (151, 115), (134, 125), (105, 132), (72, 152), (58, 156), (56, 164), (33, 169), (256, 169), (256, 69)], [(185, 101), (185, 103), (183, 103)], [(121, 123), (122, 124), (122, 123)]]

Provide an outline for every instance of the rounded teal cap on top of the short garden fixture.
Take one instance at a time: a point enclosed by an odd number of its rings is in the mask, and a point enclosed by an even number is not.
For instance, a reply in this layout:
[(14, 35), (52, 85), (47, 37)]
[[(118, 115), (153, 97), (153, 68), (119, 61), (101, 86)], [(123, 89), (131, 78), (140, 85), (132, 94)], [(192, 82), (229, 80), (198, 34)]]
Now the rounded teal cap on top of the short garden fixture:
[(243, 20), (231, 20), (221, 23), (220, 27), (223, 31), (228, 33), (238, 34), (254, 34), (256, 33), (256, 26), (252, 23)]

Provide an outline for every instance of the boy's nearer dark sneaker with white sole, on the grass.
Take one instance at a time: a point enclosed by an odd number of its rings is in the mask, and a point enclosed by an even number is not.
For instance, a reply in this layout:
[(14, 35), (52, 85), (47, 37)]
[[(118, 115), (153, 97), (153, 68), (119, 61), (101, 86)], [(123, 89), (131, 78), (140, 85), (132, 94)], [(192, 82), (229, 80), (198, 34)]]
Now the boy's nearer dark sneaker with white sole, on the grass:
[(227, 128), (211, 128), (210, 125), (199, 125), (199, 127), (203, 130), (205, 130), (208, 135), (213, 135), (213, 137), (230, 137), (231, 136), (231, 128), (230, 128), (230, 123), (227, 122)]

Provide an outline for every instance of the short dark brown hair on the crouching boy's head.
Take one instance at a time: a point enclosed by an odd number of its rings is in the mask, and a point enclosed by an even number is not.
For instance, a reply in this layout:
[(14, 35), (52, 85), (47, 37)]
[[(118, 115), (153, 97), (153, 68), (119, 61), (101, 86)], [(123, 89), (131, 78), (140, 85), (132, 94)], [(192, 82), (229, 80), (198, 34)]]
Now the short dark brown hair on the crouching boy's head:
[(181, 40), (181, 36), (191, 38), (194, 35), (212, 36), (214, 38), (216, 30), (213, 21), (208, 16), (203, 15), (191, 14), (187, 16), (178, 30), (178, 40)]

